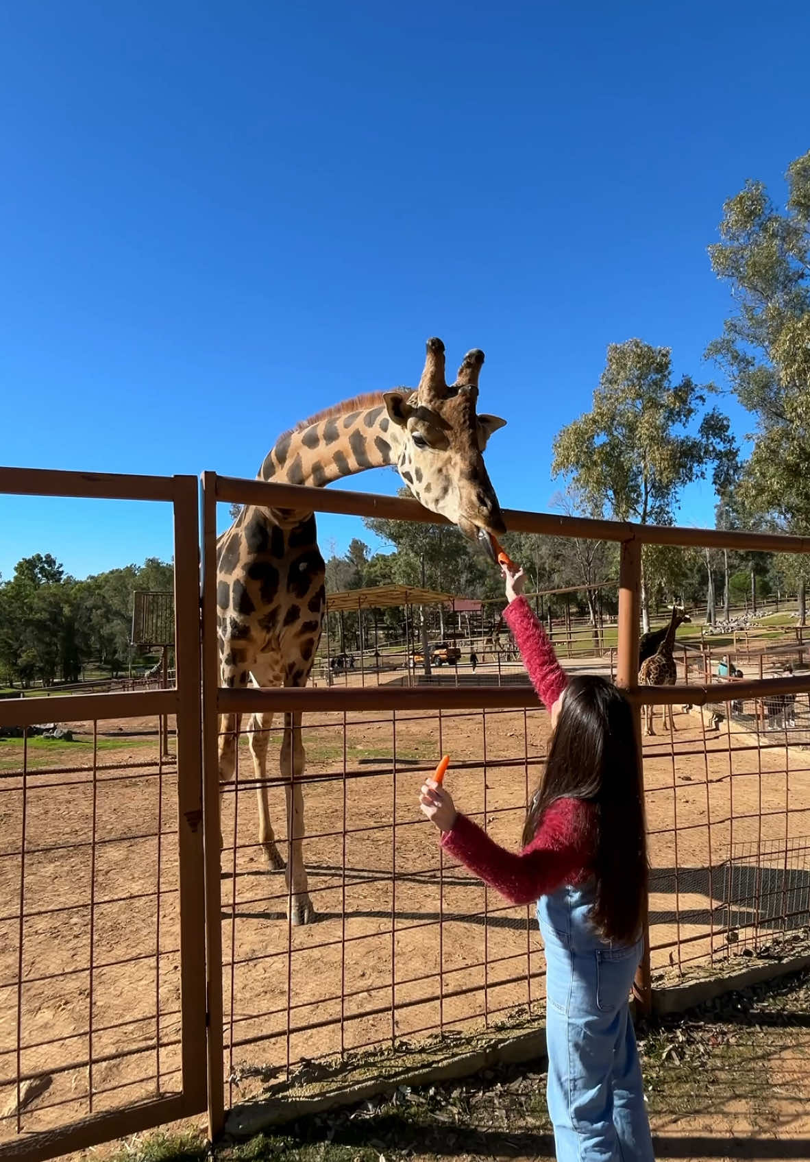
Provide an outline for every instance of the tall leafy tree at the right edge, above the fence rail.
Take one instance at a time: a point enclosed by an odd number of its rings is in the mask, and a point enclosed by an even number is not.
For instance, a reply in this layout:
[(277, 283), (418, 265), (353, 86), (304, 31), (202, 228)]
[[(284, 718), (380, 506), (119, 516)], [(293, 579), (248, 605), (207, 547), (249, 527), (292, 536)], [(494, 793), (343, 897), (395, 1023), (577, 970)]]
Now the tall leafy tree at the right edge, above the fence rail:
[(786, 211), (760, 181), (723, 206), (711, 266), (734, 313), (707, 356), (755, 418), (743, 467), (746, 507), (793, 532), (810, 531), (810, 152), (788, 168)]

